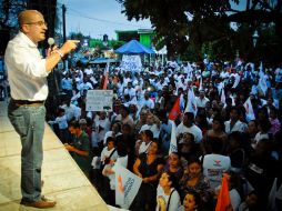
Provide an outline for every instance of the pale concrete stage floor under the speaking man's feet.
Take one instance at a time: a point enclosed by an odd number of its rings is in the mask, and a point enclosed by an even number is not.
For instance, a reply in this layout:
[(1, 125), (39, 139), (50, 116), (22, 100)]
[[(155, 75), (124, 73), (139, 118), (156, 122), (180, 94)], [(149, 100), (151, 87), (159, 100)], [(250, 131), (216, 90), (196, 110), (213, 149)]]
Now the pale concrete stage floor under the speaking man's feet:
[[(0, 211), (38, 210), (20, 205), (21, 143), (8, 120), (7, 105), (7, 102), (0, 102)], [(109, 210), (48, 124), (43, 150), (42, 193), (57, 201), (54, 208), (47, 210)]]

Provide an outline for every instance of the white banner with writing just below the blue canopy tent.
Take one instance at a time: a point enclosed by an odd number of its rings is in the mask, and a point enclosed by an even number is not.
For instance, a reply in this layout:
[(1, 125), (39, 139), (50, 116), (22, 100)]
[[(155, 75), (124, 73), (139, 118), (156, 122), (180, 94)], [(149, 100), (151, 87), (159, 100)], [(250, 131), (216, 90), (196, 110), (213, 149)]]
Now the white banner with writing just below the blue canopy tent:
[(137, 56), (123, 54), (120, 68), (124, 71), (141, 72), (142, 63), (141, 63), (140, 56), (139, 54)]

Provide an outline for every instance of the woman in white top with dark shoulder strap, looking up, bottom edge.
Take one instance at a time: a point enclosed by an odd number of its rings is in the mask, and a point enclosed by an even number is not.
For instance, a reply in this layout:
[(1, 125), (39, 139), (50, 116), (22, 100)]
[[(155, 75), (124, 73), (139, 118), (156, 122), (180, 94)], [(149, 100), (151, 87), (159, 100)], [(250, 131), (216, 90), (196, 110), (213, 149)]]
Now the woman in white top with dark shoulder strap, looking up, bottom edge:
[(157, 211), (177, 211), (180, 208), (181, 202), (177, 188), (175, 175), (164, 171), (157, 189)]

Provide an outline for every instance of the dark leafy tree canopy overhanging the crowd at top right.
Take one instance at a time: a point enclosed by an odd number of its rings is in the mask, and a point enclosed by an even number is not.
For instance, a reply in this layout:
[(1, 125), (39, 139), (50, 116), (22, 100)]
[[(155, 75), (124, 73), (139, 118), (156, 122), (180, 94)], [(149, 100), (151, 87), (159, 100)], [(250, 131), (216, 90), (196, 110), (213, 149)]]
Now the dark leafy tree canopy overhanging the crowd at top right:
[[(242, 6), (240, 0), (118, 0), (129, 20), (151, 20), (155, 30), (157, 48), (167, 44), (171, 56), (185, 54), (189, 48), (201, 49), (211, 42), (225, 51), (235, 51), (238, 32), (231, 22), (249, 23), (250, 28), (274, 22), (275, 33), (282, 38), (282, 1), (248, 0), (245, 10), (235, 10), (232, 4)], [(281, 39), (279, 44), (281, 47)], [(224, 46), (223, 46), (224, 44)], [(282, 49), (282, 48), (281, 48)], [(229, 58), (231, 52), (224, 52)], [(223, 53), (223, 54), (224, 54)], [(233, 53), (233, 52), (232, 52)]]

